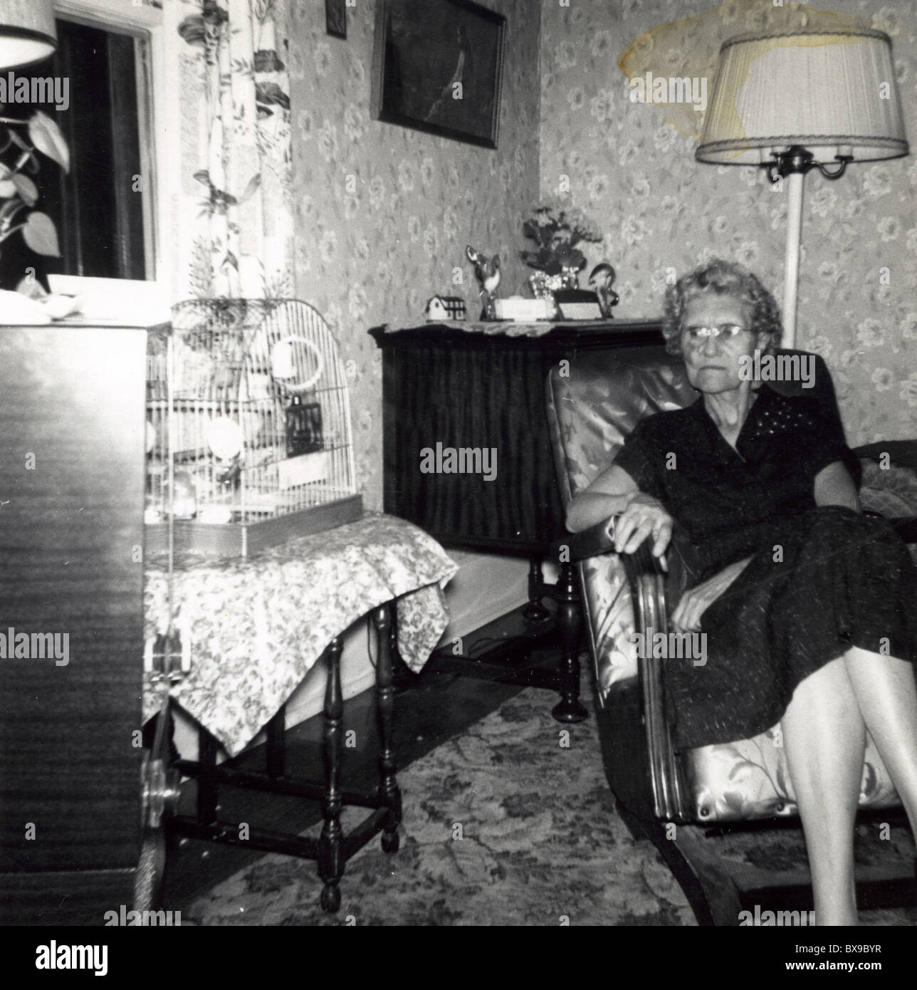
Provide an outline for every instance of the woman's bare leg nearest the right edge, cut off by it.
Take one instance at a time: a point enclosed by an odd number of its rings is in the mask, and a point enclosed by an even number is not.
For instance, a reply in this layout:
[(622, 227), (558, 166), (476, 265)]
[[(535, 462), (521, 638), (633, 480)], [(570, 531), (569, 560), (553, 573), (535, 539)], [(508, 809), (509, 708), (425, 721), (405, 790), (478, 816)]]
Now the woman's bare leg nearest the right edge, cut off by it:
[(917, 841), (917, 684), (914, 666), (852, 646), (844, 657), (847, 674)]

